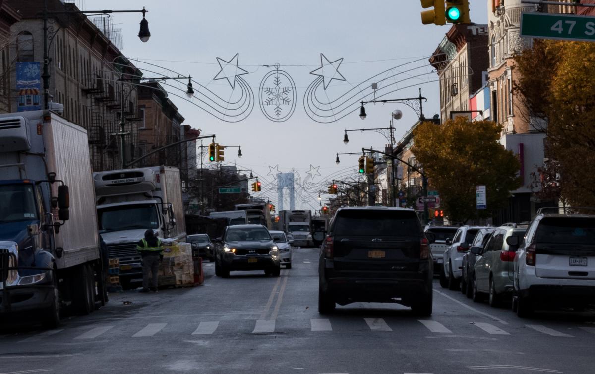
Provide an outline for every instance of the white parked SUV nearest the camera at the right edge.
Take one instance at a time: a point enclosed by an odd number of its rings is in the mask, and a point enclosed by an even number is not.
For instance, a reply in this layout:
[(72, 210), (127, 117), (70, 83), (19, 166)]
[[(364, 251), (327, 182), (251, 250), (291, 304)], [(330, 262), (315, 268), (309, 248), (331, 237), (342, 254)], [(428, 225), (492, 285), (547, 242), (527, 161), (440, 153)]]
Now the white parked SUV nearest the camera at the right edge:
[(595, 302), (595, 208), (541, 208), (514, 261), (512, 308), (519, 317), (536, 308), (581, 309)]

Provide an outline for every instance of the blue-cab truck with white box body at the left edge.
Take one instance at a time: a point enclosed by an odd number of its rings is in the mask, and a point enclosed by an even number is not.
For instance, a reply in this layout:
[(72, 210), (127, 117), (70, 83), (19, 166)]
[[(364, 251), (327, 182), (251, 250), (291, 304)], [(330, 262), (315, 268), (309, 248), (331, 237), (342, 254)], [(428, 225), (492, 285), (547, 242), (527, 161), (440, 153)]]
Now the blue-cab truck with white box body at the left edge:
[[(87, 132), (51, 111), (0, 114), (0, 314), (54, 327), (105, 303)], [(32, 312), (32, 313), (28, 313)]]

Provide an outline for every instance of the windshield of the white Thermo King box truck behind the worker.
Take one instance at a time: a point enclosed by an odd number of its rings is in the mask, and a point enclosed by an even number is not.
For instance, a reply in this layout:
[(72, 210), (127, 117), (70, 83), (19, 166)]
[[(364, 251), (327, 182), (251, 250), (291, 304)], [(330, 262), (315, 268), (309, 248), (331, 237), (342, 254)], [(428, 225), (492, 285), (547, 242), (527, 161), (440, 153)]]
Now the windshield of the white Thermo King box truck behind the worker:
[(97, 214), (100, 233), (159, 228), (159, 216), (155, 205), (118, 205), (99, 209)]

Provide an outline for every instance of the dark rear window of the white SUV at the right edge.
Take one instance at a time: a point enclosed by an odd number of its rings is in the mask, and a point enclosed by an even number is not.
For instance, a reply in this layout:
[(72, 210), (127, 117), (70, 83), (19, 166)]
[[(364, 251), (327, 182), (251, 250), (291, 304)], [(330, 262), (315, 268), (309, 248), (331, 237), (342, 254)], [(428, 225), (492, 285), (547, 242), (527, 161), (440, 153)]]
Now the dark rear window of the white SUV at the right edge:
[(534, 242), (550, 244), (595, 244), (595, 218), (544, 217)]

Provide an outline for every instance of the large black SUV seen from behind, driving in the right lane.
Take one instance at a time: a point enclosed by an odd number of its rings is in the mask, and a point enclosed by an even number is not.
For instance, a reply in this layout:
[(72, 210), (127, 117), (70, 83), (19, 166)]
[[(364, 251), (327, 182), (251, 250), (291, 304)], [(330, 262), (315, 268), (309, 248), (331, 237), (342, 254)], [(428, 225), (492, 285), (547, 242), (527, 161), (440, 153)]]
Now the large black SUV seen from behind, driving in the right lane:
[(433, 239), (411, 209), (340, 208), (320, 251), (318, 312), (368, 301), (399, 303), (430, 316)]

